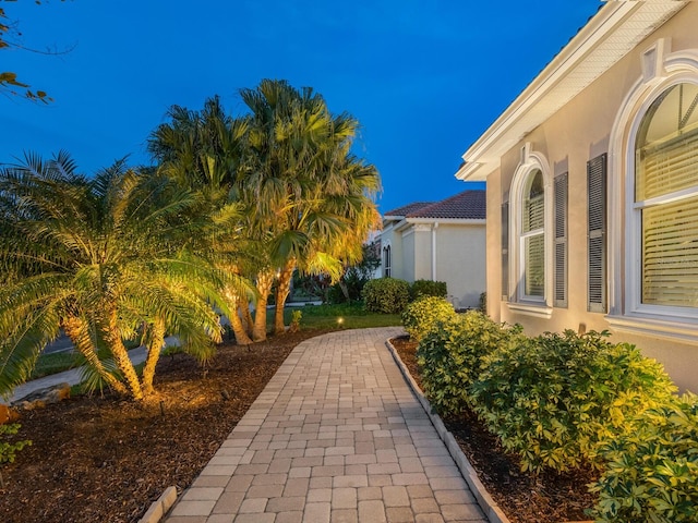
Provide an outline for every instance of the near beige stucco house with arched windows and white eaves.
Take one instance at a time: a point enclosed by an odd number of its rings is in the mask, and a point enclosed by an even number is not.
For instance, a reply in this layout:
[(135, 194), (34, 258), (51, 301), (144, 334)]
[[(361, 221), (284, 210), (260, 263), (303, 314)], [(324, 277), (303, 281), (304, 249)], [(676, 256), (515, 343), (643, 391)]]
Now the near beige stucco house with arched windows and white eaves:
[(465, 153), (488, 309), (609, 330), (698, 392), (698, 2), (606, 1)]

